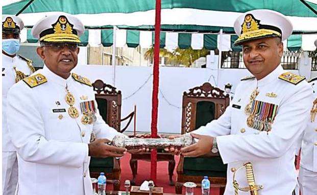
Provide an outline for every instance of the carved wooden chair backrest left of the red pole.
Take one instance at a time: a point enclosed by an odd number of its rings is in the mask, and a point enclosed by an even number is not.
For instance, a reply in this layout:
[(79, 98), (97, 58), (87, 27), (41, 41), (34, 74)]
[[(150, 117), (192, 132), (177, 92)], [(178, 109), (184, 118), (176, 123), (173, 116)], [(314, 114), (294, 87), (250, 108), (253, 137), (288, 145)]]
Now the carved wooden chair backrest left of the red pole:
[(100, 115), (110, 127), (120, 131), (121, 91), (102, 80), (96, 80), (92, 86)]

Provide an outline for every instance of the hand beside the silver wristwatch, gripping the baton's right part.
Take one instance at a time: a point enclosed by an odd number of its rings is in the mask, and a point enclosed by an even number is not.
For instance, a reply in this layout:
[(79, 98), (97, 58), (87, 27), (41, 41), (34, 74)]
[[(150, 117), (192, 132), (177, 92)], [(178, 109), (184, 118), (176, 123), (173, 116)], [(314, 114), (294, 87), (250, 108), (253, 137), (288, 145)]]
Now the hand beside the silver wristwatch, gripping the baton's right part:
[(198, 157), (210, 152), (213, 137), (194, 133), (191, 133), (190, 135), (193, 138), (199, 139), (199, 141), (195, 144), (189, 145), (188, 147), (182, 148), (181, 153), (183, 156)]

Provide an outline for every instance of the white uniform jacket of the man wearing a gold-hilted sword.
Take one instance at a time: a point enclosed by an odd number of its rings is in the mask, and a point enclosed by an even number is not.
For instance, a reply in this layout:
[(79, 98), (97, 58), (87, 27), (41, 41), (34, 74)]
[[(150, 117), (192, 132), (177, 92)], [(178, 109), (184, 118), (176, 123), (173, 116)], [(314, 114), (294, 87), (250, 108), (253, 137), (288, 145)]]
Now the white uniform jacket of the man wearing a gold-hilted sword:
[[(312, 90), (306, 81), (297, 85), (278, 77), (286, 72), (279, 65), (265, 78), (241, 81), (225, 113), (193, 133), (217, 136), (217, 147), (224, 164), (228, 164), (226, 195), (234, 194), (232, 168), (246, 162), (253, 164), (255, 183), (263, 185), (261, 195), (290, 195), (297, 184), (294, 165), (298, 142), (302, 139), (312, 106)], [(245, 107), (258, 86), (255, 100), (278, 105), (269, 133), (247, 126)], [(266, 96), (275, 93), (276, 97)], [(236, 105), (233, 107), (233, 105)], [(239, 107), (240, 108), (237, 108)], [(236, 108), (235, 108), (236, 107)], [(244, 129), (242, 129), (244, 128)], [(244, 131), (245, 130), (245, 131)], [(236, 173), (239, 187), (248, 187), (245, 168)], [(239, 190), (239, 194), (250, 194)]]

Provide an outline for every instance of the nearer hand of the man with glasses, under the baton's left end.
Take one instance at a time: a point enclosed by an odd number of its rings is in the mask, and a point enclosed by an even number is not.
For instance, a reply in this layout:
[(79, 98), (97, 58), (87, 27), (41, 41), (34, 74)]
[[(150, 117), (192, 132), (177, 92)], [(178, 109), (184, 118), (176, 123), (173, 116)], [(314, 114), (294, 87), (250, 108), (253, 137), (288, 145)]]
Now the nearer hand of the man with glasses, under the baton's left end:
[(127, 149), (117, 148), (112, 145), (108, 145), (110, 141), (108, 139), (96, 139), (88, 144), (88, 155), (93, 157), (123, 157), (126, 154)]

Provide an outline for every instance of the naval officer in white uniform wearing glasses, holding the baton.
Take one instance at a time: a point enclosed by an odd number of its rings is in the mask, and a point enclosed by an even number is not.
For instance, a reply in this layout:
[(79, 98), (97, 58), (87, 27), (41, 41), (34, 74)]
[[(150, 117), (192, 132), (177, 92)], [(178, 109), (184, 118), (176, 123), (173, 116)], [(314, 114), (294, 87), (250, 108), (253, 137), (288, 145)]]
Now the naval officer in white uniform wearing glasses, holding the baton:
[(90, 81), (71, 72), (83, 32), (83, 23), (68, 14), (44, 17), (32, 29), (45, 65), (8, 93), (19, 195), (91, 195), (90, 156), (121, 157), (126, 151), (105, 143), (118, 132), (96, 109)]

